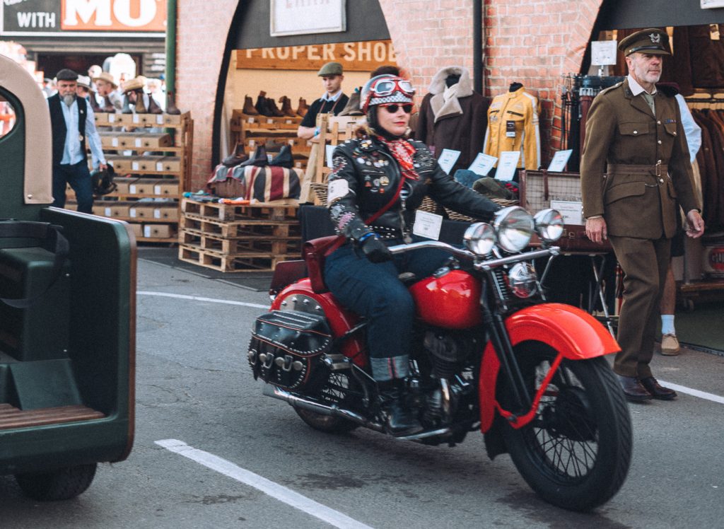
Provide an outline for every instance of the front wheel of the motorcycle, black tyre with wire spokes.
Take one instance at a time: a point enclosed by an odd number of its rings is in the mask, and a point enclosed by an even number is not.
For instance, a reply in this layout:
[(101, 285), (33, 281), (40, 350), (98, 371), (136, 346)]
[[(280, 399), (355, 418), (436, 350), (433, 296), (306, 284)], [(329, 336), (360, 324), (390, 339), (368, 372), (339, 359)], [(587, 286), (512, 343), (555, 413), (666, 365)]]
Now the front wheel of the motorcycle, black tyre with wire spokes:
[[(544, 343), (515, 347), (531, 396), (557, 351)], [(511, 402), (510, 391), (506, 392)], [(631, 415), (613, 370), (603, 357), (564, 359), (534, 420), (504, 428), (510, 457), (539, 496), (573, 511), (611, 499), (631, 463)]]

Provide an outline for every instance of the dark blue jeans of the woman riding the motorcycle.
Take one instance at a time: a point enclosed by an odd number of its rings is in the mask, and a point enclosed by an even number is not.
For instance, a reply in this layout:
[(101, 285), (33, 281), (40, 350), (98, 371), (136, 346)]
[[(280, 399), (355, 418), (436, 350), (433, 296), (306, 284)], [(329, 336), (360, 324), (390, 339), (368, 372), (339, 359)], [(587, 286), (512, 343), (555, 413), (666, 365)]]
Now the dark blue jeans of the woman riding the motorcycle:
[(369, 321), (371, 358), (401, 357), (410, 349), (415, 304), (397, 275), (413, 272), (418, 280), (424, 279), (449, 257), (445, 250), (420, 249), (375, 264), (345, 243), (325, 259), (324, 282), (329, 290), (342, 305)]

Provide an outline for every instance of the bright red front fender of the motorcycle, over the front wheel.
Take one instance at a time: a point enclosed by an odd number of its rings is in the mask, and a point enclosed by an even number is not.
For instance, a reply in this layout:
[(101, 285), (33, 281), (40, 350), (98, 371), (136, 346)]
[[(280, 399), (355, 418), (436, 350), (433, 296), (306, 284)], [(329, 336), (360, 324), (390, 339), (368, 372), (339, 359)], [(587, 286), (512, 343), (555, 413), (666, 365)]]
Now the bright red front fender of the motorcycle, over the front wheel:
[[(521, 309), (505, 320), (513, 346), (524, 341), (546, 343), (564, 359), (585, 360), (620, 351), (618, 342), (588, 312), (560, 303)], [(495, 389), (500, 360), (488, 342), (480, 369), (480, 429), (487, 432), (495, 418)]]

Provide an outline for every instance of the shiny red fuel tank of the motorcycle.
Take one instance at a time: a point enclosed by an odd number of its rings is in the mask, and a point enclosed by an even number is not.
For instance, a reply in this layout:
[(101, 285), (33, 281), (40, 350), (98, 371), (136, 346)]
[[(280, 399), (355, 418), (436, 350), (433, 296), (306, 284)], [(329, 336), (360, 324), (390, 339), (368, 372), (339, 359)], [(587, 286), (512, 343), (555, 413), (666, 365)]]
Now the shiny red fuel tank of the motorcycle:
[(429, 325), (466, 329), (482, 322), (480, 281), (463, 270), (426, 278), (410, 288), (418, 317)]

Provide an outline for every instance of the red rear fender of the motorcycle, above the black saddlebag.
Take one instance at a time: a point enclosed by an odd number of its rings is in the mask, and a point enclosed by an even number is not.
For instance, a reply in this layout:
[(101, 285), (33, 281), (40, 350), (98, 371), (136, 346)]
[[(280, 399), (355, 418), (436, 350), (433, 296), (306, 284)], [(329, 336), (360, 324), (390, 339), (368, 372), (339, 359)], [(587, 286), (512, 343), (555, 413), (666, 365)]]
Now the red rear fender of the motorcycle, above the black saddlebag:
[[(271, 303), (271, 310), (280, 310), (283, 301), (288, 301), (294, 296), (305, 296), (313, 299), (324, 312), (329, 322), (329, 329), (332, 330), (334, 338), (344, 336), (349, 330), (358, 325), (360, 317), (354, 312), (342, 307), (332, 293), (317, 293), (312, 290), (309, 278), (304, 278), (284, 288)], [(365, 347), (364, 333), (354, 333), (350, 338), (340, 343), (340, 353), (351, 359), (359, 367), (367, 365), (367, 355), (363, 354)]]

